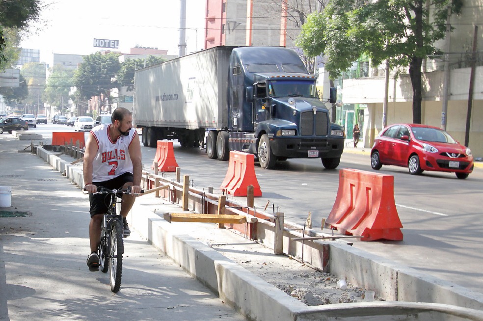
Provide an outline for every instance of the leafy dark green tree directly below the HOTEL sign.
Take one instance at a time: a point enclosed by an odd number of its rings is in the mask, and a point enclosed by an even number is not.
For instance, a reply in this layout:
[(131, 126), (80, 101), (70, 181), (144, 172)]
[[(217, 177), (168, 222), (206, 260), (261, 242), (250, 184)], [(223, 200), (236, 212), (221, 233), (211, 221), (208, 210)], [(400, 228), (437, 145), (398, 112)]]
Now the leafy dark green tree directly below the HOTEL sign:
[(100, 52), (84, 56), (83, 62), (74, 73), (74, 85), (77, 87), (77, 97), (80, 100), (101, 94), (108, 98), (110, 91), (118, 88), (118, 57), (119, 54)]

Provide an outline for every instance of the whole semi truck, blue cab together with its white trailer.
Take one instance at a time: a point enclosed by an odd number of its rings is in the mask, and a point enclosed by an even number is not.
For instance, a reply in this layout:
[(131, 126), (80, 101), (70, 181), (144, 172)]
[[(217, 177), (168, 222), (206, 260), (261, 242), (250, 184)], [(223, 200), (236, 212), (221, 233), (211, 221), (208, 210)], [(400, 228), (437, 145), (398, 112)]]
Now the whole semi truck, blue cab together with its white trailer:
[(242, 151), (266, 169), (291, 158), (339, 165), (344, 130), (330, 122), (316, 78), (291, 49), (214, 47), (135, 70), (134, 87), (144, 146), (178, 139), (218, 160)]

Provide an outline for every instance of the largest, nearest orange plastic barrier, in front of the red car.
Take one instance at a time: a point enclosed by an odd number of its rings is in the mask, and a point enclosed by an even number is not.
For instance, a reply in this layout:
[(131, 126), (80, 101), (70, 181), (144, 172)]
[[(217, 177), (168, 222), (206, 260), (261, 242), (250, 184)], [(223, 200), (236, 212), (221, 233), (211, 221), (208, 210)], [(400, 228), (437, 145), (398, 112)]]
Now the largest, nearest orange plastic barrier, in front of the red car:
[(394, 202), (394, 176), (344, 168), (325, 224), (361, 241), (402, 241), (403, 224)]

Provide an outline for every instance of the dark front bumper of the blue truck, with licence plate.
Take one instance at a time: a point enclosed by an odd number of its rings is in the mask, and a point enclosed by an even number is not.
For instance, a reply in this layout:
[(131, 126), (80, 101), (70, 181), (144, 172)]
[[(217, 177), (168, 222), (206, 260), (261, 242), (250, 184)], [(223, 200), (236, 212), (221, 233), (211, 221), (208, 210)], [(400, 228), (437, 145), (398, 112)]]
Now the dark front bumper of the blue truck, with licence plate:
[(273, 138), (270, 148), (277, 157), (336, 158), (344, 150), (343, 138)]

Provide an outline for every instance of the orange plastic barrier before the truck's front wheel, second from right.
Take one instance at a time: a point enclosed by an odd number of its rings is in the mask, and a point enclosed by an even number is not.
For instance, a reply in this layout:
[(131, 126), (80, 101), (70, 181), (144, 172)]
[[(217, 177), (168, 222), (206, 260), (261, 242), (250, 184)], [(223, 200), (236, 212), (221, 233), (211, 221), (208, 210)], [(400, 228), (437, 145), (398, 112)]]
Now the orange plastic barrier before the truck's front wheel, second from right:
[(253, 186), (253, 196), (262, 196), (262, 190), (255, 175), (255, 156), (253, 154), (230, 151), (230, 162), (222, 189), (233, 196), (246, 196), (246, 188)]

